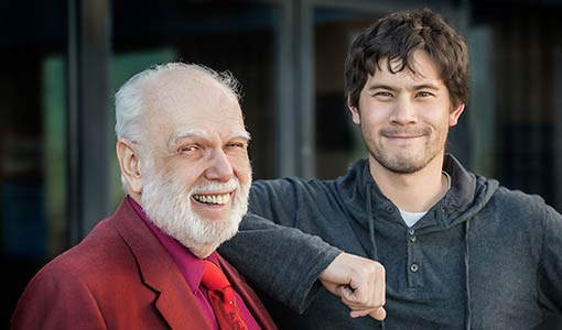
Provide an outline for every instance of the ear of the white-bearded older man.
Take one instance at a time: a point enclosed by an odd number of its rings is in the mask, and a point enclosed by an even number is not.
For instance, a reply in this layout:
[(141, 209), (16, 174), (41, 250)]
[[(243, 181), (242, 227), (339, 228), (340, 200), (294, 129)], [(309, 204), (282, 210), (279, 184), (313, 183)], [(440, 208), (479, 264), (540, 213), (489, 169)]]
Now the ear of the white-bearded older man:
[(117, 158), (121, 175), (127, 182), (128, 189), (134, 194), (142, 193), (142, 166), (138, 148), (126, 140), (119, 140), (116, 144)]

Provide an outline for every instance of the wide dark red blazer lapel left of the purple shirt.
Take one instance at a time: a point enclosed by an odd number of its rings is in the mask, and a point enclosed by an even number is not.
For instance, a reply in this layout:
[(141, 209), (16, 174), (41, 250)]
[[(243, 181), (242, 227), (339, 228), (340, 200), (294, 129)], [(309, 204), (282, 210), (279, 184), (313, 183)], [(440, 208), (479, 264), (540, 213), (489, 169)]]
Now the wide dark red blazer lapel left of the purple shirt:
[(142, 283), (158, 293), (155, 308), (172, 329), (212, 329), (190, 286), (158, 238), (125, 199), (116, 229), (137, 260)]

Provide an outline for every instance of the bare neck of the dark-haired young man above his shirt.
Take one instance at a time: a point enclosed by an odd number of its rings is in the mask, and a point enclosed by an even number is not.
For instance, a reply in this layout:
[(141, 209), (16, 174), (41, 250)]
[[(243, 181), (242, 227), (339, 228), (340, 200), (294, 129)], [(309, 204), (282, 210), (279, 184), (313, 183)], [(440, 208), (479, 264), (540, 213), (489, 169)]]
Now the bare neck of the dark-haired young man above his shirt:
[(443, 157), (435, 157), (428, 166), (415, 173), (396, 173), (369, 160), (370, 174), (382, 195), (400, 210), (424, 212), (434, 206), (448, 190), (448, 179), (443, 174)]

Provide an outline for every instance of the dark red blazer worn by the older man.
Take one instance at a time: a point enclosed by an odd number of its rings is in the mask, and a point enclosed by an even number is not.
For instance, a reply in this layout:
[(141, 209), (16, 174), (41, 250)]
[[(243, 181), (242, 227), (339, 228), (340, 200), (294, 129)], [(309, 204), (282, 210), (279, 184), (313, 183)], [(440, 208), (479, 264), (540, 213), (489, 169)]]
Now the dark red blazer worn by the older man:
[[(219, 256), (263, 329), (277, 329), (238, 272)], [(166, 250), (127, 200), (28, 284), (11, 329), (212, 329)]]

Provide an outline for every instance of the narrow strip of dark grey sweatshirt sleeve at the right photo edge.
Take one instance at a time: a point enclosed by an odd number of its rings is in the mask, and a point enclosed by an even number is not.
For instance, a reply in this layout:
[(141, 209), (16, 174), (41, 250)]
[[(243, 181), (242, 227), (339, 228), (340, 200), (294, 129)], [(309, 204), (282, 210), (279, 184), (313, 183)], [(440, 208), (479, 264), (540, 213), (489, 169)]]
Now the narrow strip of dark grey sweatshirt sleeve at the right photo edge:
[(539, 268), (540, 302), (550, 312), (562, 314), (562, 216), (547, 206)]

